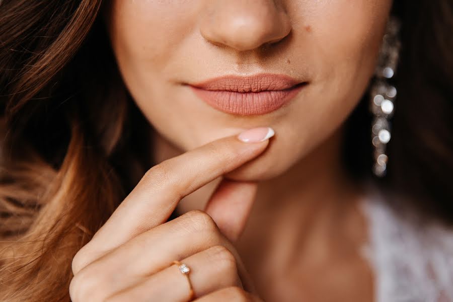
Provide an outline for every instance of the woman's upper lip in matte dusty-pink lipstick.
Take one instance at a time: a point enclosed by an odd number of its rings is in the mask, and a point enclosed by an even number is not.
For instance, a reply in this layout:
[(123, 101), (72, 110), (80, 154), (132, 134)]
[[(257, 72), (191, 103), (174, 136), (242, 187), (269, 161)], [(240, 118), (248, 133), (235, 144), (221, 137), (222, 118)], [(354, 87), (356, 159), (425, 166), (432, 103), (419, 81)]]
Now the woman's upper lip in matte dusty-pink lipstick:
[(288, 75), (274, 73), (259, 73), (248, 77), (238, 75), (225, 75), (209, 79), (190, 86), (211, 91), (232, 91), (232, 92), (261, 92), (276, 91), (292, 88), (303, 82), (297, 81)]

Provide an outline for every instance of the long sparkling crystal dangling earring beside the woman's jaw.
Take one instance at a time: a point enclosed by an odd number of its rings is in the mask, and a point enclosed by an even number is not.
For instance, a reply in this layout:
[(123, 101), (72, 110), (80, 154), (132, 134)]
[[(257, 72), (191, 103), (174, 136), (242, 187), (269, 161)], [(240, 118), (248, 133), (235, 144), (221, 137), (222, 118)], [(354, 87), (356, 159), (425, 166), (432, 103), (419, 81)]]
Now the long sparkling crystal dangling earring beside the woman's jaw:
[(387, 143), (391, 138), (390, 118), (394, 111), (397, 95), (396, 88), (389, 82), (393, 78), (400, 52), (399, 37), (401, 23), (398, 18), (391, 16), (379, 52), (378, 65), (370, 88), (370, 111), (373, 114), (371, 139), (374, 146), (373, 173), (383, 177), (387, 173), (388, 156)]

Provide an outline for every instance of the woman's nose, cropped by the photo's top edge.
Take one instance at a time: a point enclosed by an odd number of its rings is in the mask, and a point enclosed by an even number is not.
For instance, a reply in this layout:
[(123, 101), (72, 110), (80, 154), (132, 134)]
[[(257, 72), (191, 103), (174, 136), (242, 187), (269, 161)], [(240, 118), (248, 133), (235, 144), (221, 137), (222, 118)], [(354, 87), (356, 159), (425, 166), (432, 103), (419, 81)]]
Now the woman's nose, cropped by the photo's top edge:
[(239, 51), (275, 43), (291, 31), (279, 0), (207, 0), (200, 23), (201, 35), (210, 43)]

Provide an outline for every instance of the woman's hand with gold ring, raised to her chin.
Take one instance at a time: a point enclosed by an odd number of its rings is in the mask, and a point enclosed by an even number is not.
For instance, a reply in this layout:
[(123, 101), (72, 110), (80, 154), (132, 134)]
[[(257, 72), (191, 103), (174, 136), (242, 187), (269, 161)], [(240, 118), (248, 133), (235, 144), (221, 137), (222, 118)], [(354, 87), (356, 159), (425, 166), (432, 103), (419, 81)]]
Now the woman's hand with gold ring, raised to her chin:
[(74, 256), (72, 301), (187, 301), (189, 283), (173, 260), (191, 268), (200, 301), (257, 300), (246, 291), (253, 284), (232, 244), (244, 229), (256, 183), (223, 179), (205, 211), (166, 222), (184, 196), (260, 155), (273, 131), (247, 133), (266, 137), (221, 138), (149, 169)]

